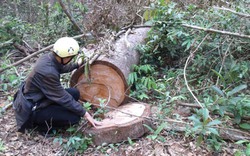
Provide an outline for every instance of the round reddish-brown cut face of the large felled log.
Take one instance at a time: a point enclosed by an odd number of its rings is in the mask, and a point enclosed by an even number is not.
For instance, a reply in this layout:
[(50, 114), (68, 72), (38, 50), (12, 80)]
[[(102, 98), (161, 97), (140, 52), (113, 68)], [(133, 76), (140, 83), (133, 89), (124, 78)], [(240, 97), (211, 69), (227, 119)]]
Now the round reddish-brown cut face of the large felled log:
[(90, 77), (84, 75), (84, 67), (71, 77), (71, 87), (80, 91), (80, 100), (100, 103), (106, 99), (109, 106), (118, 107), (126, 99), (127, 83), (121, 71), (111, 63), (95, 61), (90, 66)]

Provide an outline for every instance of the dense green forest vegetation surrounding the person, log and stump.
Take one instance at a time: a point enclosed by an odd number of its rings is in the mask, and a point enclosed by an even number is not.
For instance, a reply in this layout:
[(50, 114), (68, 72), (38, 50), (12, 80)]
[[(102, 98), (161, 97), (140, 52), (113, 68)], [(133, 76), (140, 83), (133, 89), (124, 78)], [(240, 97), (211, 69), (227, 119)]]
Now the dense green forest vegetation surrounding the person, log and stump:
[[(148, 127), (147, 141), (178, 138), (210, 155), (223, 155), (231, 143), (237, 145), (231, 155), (250, 155), (249, 0), (1, 0), (0, 5), (1, 118), (31, 64), (58, 38), (84, 34), (77, 39), (81, 46), (105, 51), (114, 34), (147, 25), (146, 43), (137, 47), (140, 63), (128, 79), (129, 96), (157, 108), (156, 128)], [(63, 77), (65, 85), (68, 79)], [(74, 135), (66, 141), (62, 133), (54, 137), (62, 153), (84, 153), (91, 146), (91, 138), (75, 131), (68, 130)], [(0, 153), (7, 146), (1, 138)], [(117, 152), (120, 146), (97, 150)]]

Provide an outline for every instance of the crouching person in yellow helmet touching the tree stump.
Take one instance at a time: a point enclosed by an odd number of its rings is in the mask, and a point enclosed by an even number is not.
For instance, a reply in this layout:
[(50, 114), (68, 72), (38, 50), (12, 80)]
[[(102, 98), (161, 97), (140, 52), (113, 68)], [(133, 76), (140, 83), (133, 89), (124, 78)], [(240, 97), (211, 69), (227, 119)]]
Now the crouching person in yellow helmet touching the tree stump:
[(28, 78), (16, 93), (13, 102), (18, 131), (37, 128), (39, 131), (58, 129), (79, 123), (85, 117), (94, 127), (94, 120), (77, 102), (76, 88), (64, 89), (60, 74), (79, 68), (81, 63), (69, 63), (78, 54), (79, 45), (70, 37), (56, 41), (53, 52), (41, 56)]

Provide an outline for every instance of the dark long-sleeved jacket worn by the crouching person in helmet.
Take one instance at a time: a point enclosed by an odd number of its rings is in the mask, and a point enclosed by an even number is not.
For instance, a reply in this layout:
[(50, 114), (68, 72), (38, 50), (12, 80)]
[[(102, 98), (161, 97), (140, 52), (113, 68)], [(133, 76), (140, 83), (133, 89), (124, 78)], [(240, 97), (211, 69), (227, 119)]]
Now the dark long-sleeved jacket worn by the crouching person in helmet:
[[(30, 114), (24, 112), (27, 110), (31, 112), (36, 103), (38, 104), (36, 109), (56, 103), (79, 116), (84, 116), (86, 111), (82, 105), (75, 101), (60, 83), (60, 74), (71, 72), (76, 68), (78, 68), (77, 64), (62, 65), (56, 60), (53, 53), (45, 54), (37, 60), (23, 86), (23, 92), (20, 91), (21, 87), (16, 96), (18, 98), (15, 98), (13, 102), (18, 128), (24, 124), (28, 114)], [(25, 98), (20, 98), (22, 97), (19, 95), (21, 93)], [(29, 101), (31, 101), (32, 106), (30, 106)], [(22, 109), (22, 107), (27, 109)]]

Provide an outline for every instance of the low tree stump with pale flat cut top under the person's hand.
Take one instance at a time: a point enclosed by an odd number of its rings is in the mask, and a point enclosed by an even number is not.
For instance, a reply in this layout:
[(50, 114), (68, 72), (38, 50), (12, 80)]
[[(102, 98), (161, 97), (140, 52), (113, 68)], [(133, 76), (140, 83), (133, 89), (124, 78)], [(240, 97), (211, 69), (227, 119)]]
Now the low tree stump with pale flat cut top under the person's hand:
[(148, 132), (144, 124), (151, 126), (150, 113), (148, 104), (128, 103), (105, 114), (102, 126), (88, 128), (84, 134), (91, 136), (95, 145), (137, 139)]

